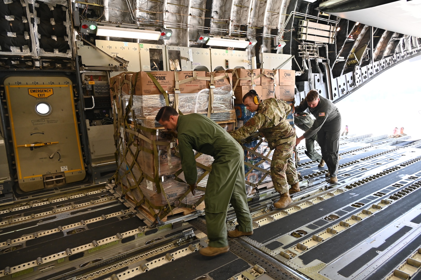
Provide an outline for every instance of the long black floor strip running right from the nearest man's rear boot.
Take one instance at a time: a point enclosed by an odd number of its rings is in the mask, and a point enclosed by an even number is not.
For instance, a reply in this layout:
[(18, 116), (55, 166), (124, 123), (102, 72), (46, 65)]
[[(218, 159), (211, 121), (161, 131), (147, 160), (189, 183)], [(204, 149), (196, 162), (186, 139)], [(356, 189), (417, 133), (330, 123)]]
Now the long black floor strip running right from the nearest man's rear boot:
[[(413, 174), (421, 169), (421, 161), (413, 163), (405, 168), (400, 169), (400, 174)], [(358, 194), (359, 197), (364, 197), (370, 193), (378, 191), (379, 188), (384, 188), (384, 186), (396, 182), (396, 173), (389, 173), (385, 176), (382, 176), (376, 180), (369, 181), (366, 184), (363, 184), (359, 187), (352, 189), (351, 192)], [(341, 193), (334, 197), (331, 197), (327, 200), (321, 201), (313, 206), (304, 208), (296, 213), (293, 213), (288, 216), (282, 217), (282, 219), (277, 219), (269, 224), (265, 224), (263, 227), (258, 227), (254, 229), (254, 234), (250, 236), (251, 239), (259, 243), (267, 243), (270, 240), (274, 240), (282, 235), (287, 234), (288, 232), (299, 229), (305, 224), (320, 219), (332, 212), (337, 211), (344, 207), (344, 205), (354, 203), (355, 197), (349, 195), (348, 192)], [(360, 208), (354, 208), (354, 211), (357, 211)]]

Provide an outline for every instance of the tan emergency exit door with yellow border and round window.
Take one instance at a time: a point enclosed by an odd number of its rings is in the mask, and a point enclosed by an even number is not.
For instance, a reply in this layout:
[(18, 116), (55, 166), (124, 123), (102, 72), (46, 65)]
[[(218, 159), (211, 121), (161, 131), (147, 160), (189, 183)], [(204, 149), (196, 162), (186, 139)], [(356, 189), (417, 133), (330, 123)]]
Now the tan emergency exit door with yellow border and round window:
[(66, 77), (8, 77), (4, 86), (20, 189), (83, 180), (72, 82)]

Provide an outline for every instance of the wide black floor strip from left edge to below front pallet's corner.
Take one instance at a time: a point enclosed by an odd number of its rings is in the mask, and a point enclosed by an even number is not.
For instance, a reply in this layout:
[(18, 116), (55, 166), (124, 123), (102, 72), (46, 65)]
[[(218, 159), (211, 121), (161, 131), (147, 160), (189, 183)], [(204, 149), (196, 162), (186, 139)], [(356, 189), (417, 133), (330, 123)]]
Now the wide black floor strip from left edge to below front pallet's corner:
[(67, 248), (74, 248), (92, 240), (101, 240), (116, 233), (126, 232), (136, 229), (142, 223), (136, 216), (130, 219), (119, 220), (116, 217), (104, 220), (107, 224), (95, 229), (88, 229), (72, 235), (65, 235), (52, 241), (40, 243), (34, 246), (25, 247), (16, 251), (0, 254), (0, 264), (4, 267), (14, 267), (29, 261), (36, 260), (37, 257), (49, 256), (54, 253), (65, 251)]

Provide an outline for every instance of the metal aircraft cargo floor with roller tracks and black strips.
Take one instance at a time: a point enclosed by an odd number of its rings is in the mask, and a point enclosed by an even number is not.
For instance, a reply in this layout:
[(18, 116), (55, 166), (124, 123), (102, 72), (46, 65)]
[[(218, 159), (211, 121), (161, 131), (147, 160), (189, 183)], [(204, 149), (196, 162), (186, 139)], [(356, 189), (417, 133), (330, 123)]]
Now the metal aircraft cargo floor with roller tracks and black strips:
[(421, 150), (342, 142), (340, 154), (337, 184), (300, 155), (307, 178), (293, 204), (273, 208), (277, 194), (261, 189), (249, 203), (254, 234), (214, 258), (197, 252), (204, 217), (151, 229), (103, 188), (0, 207), (0, 279), (420, 279)]

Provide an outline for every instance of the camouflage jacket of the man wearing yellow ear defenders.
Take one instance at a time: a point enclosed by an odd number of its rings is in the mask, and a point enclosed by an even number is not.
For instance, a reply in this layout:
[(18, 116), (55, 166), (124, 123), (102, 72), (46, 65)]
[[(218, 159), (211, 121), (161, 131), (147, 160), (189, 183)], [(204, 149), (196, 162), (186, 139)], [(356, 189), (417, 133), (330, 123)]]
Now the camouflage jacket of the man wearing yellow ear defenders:
[(253, 132), (259, 131), (266, 138), (270, 149), (295, 139), (296, 133), (286, 120), (291, 107), (285, 101), (274, 98), (262, 101), (257, 107), (254, 117), (248, 120), (242, 127), (231, 131), (232, 137), (240, 141), (247, 138)]

